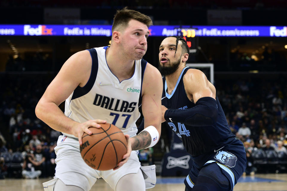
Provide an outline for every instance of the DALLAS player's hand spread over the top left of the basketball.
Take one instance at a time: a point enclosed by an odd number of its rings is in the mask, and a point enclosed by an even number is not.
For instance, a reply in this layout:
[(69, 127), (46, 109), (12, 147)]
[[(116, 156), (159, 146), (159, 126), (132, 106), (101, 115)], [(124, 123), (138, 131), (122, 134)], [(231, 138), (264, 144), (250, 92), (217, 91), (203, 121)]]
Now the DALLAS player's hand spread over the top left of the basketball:
[(100, 119), (95, 119), (95, 120), (89, 120), (84, 123), (78, 123), (77, 126), (73, 128), (73, 135), (75, 137), (79, 138), (79, 143), (80, 145), (83, 144), (82, 141), (82, 136), (84, 133), (91, 135), (92, 132), (88, 129), (89, 127), (96, 127), (100, 128), (101, 125), (99, 123), (106, 123), (106, 120), (100, 120)]

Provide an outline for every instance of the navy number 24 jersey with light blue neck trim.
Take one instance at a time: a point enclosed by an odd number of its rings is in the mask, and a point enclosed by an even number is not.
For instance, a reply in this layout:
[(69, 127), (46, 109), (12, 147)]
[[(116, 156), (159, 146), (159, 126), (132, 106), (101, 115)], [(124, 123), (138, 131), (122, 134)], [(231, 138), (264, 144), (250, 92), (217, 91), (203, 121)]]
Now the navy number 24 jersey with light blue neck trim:
[[(190, 69), (190, 67), (185, 67), (182, 70), (171, 95), (167, 94), (167, 83), (165, 77), (163, 78), (164, 90), (161, 103), (166, 106), (167, 109), (190, 109), (195, 106), (193, 100), (188, 99), (184, 89), (183, 77), (188, 69)], [(219, 149), (221, 146), (231, 143), (235, 137), (229, 129), (217, 96), (216, 103), (218, 107), (218, 118), (212, 126), (188, 126), (184, 123), (173, 122), (172, 118), (166, 121), (182, 140), (187, 152), (193, 156), (193, 160), (199, 163), (200, 160), (202, 160), (199, 155), (214, 152), (215, 149)]]

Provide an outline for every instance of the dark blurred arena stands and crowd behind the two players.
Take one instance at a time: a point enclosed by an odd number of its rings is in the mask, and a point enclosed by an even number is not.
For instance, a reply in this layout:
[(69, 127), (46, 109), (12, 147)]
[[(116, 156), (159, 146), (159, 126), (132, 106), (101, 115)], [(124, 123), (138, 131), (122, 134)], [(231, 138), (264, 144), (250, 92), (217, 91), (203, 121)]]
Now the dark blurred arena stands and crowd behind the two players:
[[(46, 8), (80, 7), (77, 19), (50, 21)], [(240, 11), (235, 25), (286, 25), (282, 0), (246, 1), (79, 1), (4, 0), (0, 24), (109, 24), (115, 9), (129, 5), (152, 17), (155, 25), (212, 25), (208, 10)], [(95, 11), (98, 10), (98, 11)], [(169, 10), (169, 11), (168, 11)], [(184, 10), (184, 11), (182, 11)], [(109, 14), (103, 14), (103, 13)], [(172, 16), (171, 16), (172, 14)], [(252, 18), (252, 19), (250, 19)], [(46, 20), (45, 20), (46, 19)], [(211, 23), (210, 23), (211, 22)], [(219, 24), (220, 25), (220, 24)], [(222, 23), (221, 25), (225, 25)], [(228, 23), (227, 25), (232, 25)], [(149, 37), (144, 59), (158, 66), (164, 37)], [(244, 143), (245, 174), (286, 172), (287, 45), (286, 37), (199, 37), (190, 62), (213, 63), (214, 85), (230, 130)], [(54, 176), (61, 135), (39, 120), (35, 106), (69, 56), (87, 48), (109, 45), (110, 37), (0, 35), (0, 178)], [(16, 51), (15, 51), (16, 50)], [(61, 109), (64, 104), (60, 105)], [(140, 122), (140, 121), (139, 121)], [(142, 150), (140, 161), (159, 163), (172, 144), (171, 130), (162, 127), (161, 141)]]

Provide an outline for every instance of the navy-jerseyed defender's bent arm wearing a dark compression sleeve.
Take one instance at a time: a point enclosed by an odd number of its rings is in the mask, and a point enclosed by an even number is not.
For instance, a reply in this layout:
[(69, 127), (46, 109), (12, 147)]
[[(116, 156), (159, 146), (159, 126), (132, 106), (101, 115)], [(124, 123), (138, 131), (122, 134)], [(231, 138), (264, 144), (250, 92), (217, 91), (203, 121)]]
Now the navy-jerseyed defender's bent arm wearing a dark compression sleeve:
[(203, 72), (189, 69), (184, 75), (187, 97), (194, 101), (190, 109), (167, 109), (162, 106), (162, 121), (171, 120), (190, 126), (210, 126), (217, 121), (216, 91)]

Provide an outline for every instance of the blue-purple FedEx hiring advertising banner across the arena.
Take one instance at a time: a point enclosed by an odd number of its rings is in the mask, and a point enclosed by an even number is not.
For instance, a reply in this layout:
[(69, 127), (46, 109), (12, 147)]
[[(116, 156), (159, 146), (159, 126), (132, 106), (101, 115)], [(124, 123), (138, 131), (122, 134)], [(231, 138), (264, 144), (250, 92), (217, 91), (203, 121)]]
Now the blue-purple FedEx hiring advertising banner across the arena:
[[(196, 29), (195, 36), (286, 37), (285, 26), (179, 26), (155, 25), (150, 36), (178, 35), (181, 29)], [(112, 25), (0, 25), (0, 36), (111, 36)]]

